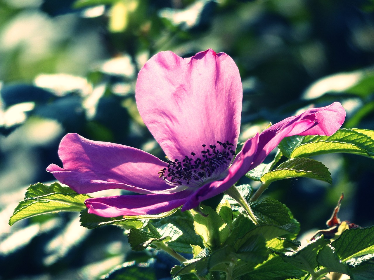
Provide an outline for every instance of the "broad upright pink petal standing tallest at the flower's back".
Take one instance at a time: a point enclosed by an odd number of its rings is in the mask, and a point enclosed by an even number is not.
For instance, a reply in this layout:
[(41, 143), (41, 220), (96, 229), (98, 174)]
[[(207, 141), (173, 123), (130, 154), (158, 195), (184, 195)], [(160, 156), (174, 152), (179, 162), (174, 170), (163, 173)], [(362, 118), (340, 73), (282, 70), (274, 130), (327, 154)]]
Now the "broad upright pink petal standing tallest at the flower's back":
[(242, 83), (231, 57), (209, 49), (190, 58), (153, 56), (138, 75), (140, 115), (169, 159), (199, 154), (202, 144), (237, 145)]

